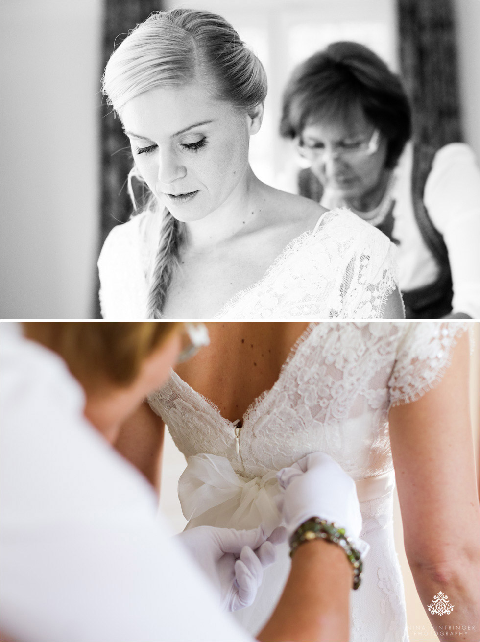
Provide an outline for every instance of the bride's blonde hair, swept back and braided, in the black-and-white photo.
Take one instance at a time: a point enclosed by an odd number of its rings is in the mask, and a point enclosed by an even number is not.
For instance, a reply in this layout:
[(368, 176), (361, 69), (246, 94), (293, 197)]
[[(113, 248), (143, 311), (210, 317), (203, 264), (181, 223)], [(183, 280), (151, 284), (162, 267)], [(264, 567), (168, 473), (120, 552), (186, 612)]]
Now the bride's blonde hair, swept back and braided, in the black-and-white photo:
[[(102, 91), (121, 118), (122, 108), (132, 98), (157, 87), (181, 87), (194, 81), (244, 113), (261, 105), (267, 92), (263, 65), (229, 22), (215, 13), (173, 9), (152, 13), (121, 42), (105, 67)], [(137, 211), (133, 177), (142, 180), (135, 165), (128, 175), (128, 191)], [(158, 213), (155, 195), (145, 209)], [(159, 215), (162, 225), (151, 276), (149, 318), (162, 318), (185, 239), (184, 223), (167, 210)]]

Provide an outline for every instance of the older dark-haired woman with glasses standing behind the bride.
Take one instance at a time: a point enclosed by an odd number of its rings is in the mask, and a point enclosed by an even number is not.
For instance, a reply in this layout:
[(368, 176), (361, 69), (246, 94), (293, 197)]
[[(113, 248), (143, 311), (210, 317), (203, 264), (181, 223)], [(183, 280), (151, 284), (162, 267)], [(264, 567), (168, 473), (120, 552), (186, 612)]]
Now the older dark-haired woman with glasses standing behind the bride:
[(347, 206), (397, 245), (408, 318), (478, 317), (474, 155), (411, 141), (407, 96), (377, 55), (335, 42), (296, 67), (280, 132), (304, 159), (302, 195)]

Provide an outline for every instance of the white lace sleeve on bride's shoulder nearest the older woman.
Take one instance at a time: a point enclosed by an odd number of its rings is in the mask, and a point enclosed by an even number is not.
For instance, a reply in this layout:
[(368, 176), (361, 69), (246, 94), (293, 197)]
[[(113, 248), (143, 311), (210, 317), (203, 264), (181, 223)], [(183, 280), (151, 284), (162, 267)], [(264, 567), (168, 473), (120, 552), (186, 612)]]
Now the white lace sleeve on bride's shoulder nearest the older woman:
[(385, 234), (351, 214), (356, 245), (343, 281), (343, 318), (383, 317), (384, 306), (398, 286), (397, 248)]

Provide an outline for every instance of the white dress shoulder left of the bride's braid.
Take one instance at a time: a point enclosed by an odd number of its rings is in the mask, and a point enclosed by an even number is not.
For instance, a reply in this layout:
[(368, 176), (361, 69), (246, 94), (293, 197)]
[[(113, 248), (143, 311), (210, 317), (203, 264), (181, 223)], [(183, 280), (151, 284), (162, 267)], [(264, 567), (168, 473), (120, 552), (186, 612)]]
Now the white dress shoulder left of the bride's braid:
[(101, 315), (107, 320), (146, 318), (146, 276), (142, 268), (139, 220), (117, 225), (98, 259)]

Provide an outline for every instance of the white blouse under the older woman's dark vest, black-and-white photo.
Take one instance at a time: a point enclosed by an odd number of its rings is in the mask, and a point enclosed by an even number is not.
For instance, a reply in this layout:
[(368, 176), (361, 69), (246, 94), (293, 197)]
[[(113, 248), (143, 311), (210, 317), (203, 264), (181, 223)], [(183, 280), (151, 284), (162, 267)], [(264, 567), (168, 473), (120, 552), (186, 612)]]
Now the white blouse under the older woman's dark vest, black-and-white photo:
[[(433, 283), (438, 265), (415, 220), (411, 194), (413, 144), (407, 143), (394, 170), (392, 237), (399, 241), (399, 284), (402, 292)], [(332, 207), (329, 195), (321, 205)], [(479, 171), (476, 157), (463, 143), (436, 152), (425, 183), (424, 204), (449, 251), (454, 312), (479, 318)]]

